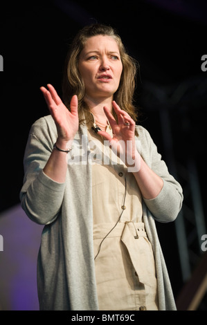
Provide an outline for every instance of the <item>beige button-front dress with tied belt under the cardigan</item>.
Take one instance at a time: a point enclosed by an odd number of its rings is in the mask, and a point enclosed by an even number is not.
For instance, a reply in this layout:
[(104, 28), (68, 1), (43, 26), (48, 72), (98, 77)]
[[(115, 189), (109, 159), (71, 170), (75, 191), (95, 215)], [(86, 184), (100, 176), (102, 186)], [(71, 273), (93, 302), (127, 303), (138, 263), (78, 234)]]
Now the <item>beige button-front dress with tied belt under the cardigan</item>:
[[(111, 134), (110, 126), (107, 131)], [(93, 245), (100, 310), (158, 310), (152, 246), (134, 175), (93, 130)], [(101, 154), (102, 153), (102, 154)], [(107, 158), (106, 158), (107, 157)]]

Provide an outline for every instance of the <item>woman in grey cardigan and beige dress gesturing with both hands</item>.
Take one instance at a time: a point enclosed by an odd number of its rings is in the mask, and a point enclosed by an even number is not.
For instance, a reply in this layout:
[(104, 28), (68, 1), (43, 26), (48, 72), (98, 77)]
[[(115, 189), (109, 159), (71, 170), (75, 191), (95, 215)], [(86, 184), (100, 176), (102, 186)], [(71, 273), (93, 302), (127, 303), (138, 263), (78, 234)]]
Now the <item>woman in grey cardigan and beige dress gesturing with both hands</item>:
[(64, 103), (30, 130), (21, 205), (44, 224), (41, 310), (175, 310), (154, 219), (173, 221), (179, 183), (136, 126), (136, 64), (113, 28), (86, 26), (66, 61)]

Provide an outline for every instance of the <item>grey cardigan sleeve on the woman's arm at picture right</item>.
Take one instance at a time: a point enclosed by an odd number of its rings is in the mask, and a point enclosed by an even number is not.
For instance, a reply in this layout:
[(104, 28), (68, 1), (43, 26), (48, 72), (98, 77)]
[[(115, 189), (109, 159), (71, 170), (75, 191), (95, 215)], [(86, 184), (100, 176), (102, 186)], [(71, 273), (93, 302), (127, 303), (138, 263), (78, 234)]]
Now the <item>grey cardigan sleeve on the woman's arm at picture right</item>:
[(141, 140), (141, 156), (145, 163), (163, 179), (163, 188), (156, 198), (143, 198), (145, 205), (153, 214), (154, 219), (167, 223), (174, 221), (181, 210), (183, 191), (178, 181), (169, 173), (168, 167), (158, 153), (150, 133), (143, 127), (138, 127)]

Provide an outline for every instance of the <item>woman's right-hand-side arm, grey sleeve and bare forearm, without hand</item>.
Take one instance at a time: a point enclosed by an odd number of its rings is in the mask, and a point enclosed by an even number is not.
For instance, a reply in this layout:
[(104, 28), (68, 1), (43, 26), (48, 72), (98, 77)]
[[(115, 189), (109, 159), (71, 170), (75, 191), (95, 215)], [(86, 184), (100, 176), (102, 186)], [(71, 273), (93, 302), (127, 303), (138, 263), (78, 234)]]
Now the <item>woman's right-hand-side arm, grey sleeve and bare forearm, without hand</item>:
[[(181, 185), (169, 174), (168, 167), (157, 152), (150, 133), (138, 127), (136, 142), (136, 169), (132, 165), (134, 177), (141, 187), (143, 202), (154, 219), (159, 222), (171, 222), (181, 210), (183, 192)], [(149, 192), (150, 190), (150, 192)]]

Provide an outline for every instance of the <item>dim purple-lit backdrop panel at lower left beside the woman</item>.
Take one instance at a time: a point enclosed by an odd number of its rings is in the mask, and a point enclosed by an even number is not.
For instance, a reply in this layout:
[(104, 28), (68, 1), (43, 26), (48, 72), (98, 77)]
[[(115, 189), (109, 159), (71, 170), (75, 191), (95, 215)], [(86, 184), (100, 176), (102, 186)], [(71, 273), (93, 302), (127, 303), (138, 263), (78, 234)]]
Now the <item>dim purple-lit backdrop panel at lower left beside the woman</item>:
[(0, 214), (0, 310), (39, 310), (36, 276), (42, 229), (20, 205)]

